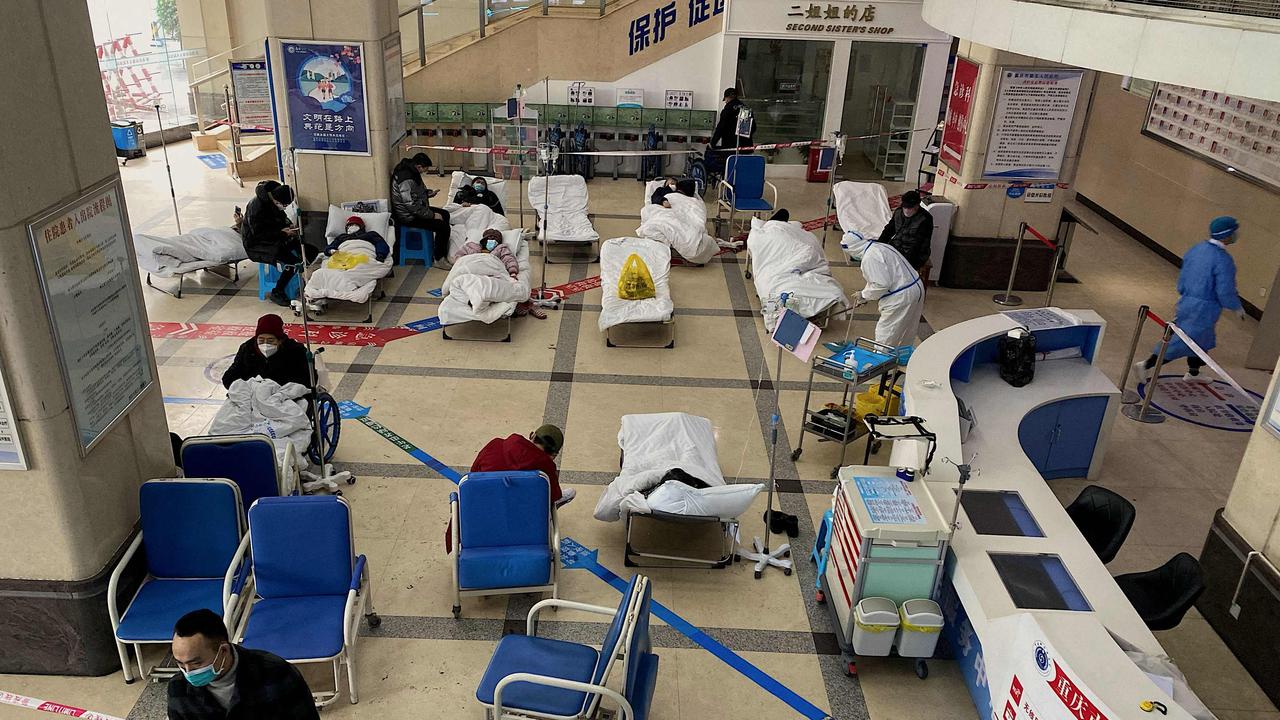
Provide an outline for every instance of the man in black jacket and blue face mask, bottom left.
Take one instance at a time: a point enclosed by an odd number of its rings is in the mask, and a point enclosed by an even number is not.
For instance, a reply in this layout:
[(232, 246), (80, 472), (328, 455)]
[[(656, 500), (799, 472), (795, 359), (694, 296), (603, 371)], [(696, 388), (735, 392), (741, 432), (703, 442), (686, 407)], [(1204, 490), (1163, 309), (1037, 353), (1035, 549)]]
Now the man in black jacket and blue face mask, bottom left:
[(196, 610), (173, 629), (169, 720), (319, 720), (302, 673), (288, 661), (232, 644), (223, 619)]

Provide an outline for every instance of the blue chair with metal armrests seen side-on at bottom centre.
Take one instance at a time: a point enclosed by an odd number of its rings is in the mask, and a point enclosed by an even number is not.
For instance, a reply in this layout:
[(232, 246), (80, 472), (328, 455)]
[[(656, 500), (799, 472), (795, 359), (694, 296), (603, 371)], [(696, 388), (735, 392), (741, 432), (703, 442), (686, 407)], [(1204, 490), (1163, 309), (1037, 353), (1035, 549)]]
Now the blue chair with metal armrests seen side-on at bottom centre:
[[(620, 720), (645, 720), (658, 680), (658, 656), (649, 641), (649, 578), (635, 575), (617, 610), (566, 600), (544, 600), (529, 611), (526, 634), (498, 641), (489, 666), (476, 688), (485, 714), (498, 720), (506, 712), (541, 719), (596, 716), (600, 701), (618, 707)], [(564, 607), (612, 615), (596, 651), (591, 646), (538, 637), (538, 614), (544, 607)], [(607, 685), (613, 665), (622, 659), (622, 689)]]

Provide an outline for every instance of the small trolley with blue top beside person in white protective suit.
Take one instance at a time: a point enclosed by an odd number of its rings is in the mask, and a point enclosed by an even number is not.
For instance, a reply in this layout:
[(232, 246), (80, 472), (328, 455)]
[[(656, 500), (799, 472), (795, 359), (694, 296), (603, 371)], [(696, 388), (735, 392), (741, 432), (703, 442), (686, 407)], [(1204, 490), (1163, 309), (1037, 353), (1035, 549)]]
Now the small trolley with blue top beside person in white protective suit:
[[(870, 384), (879, 379), (879, 395), (887, 397), (888, 392), (897, 384), (901, 374), (899, 368), (897, 351), (887, 345), (860, 337), (851, 346), (846, 346), (840, 352), (829, 357), (815, 356), (809, 364), (809, 383), (804, 391), (804, 418), (800, 428), (800, 443), (791, 452), (791, 460), (799, 460), (804, 452), (804, 436), (812, 433), (818, 436), (818, 442), (838, 442), (840, 462), (832, 468), (831, 477), (836, 478), (840, 468), (845, 464), (845, 451), (849, 443), (867, 434), (863, 425), (852, 411), (852, 400), (858, 395), (860, 386)], [(814, 378), (838, 380), (844, 384), (840, 396), (840, 407), (847, 407), (847, 413), (822, 409), (812, 410), (809, 402), (813, 400)], [(838, 424), (833, 424), (838, 423)], [(869, 462), (872, 456), (872, 441), (867, 441), (867, 452), (863, 462)]]

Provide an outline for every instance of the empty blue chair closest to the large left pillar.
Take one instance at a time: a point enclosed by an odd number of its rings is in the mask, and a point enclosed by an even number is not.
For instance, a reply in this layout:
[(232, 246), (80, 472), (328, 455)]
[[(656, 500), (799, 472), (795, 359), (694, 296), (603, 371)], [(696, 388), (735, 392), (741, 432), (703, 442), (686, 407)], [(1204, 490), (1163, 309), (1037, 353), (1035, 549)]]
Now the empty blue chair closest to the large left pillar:
[[(125, 683), (134, 680), (128, 647), (133, 646), (138, 674), (146, 678), (141, 646), (168, 644), (173, 639), (174, 623), (187, 612), (207, 607), (221, 615), (228, 625), (233, 624), (247, 569), (238, 555), (247, 538), (236, 483), (182, 478), (147, 480), (138, 491), (138, 510), (142, 530), (111, 571), (106, 591), (106, 609)], [(122, 615), (120, 578), (138, 550), (143, 550), (146, 577)], [(168, 674), (174, 673), (170, 669)]]

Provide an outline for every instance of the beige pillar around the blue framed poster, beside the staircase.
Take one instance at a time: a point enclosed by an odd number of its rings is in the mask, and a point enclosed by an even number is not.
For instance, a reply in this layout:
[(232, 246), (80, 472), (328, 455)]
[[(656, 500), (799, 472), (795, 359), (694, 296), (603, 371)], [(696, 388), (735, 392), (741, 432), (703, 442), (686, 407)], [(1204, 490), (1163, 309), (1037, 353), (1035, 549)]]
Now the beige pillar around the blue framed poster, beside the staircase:
[[(255, 5), (248, 8), (247, 5)], [(399, 159), (399, 150), (392, 147), (397, 138), (389, 136), (387, 104), (387, 63), (383, 51), (399, 37), (396, 0), (311, 0), (310, 3), (276, 3), (253, 0), (229, 3), (233, 12), (262, 13), (260, 36), (270, 40), (274, 61), (275, 102), (279, 109), (282, 150), (288, 151), (289, 126), (284, 113), (287, 106), (284, 63), (280, 61), (280, 40), (325, 40), (364, 42), (365, 92), (369, 99), (369, 156), (315, 155), (297, 156), (300, 208), (305, 211), (324, 213), (329, 204), (348, 200), (387, 197), (390, 187), (392, 167)], [(233, 22), (233, 26), (242, 24)], [(242, 31), (243, 35), (243, 31)], [(397, 58), (393, 72), (402, 72)], [(285, 160), (288, 164), (288, 160)], [(289, 170), (285, 182), (294, 183)]]

